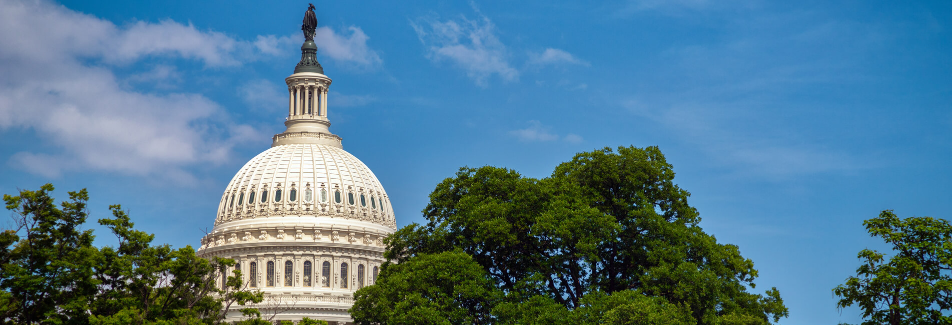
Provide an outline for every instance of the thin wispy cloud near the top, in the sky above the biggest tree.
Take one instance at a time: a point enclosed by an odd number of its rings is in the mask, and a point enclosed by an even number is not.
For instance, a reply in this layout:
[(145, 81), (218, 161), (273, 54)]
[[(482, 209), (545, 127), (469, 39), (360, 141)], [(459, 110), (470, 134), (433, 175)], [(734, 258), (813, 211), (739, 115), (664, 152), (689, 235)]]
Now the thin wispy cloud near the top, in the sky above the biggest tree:
[(495, 26), (482, 14), (475, 20), (461, 16), (440, 21), (427, 16), (410, 21), (410, 26), (426, 48), (428, 59), (452, 62), (466, 70), (478, 86), (487, 86), (487, 79), (494, 74), (504, 81), (519, 79), (519, 71), (509, 65), (506, 46), (495, 35)]

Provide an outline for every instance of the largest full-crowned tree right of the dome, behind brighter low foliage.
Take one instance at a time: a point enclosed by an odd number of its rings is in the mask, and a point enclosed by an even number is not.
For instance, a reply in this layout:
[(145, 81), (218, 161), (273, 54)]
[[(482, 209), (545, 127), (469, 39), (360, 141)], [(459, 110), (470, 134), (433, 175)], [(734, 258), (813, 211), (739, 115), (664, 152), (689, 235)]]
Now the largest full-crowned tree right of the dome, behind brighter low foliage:
[[(461, 168), (430, 194), (425, 225), (410, 224), (387, 239), (386, 257), (398, 265), (446, 252), (472, 257), (504, 294), (495, 318), (486, 314), (501, 323), (529, 323), (511, 317), (527, 321), (545, 314), (539, 308), (582, 313), (594, 299), (587, 296), (615, 299), (628, 291), (648, 299), (624, 296), (639, 308), (659, 306), (646, 309), (658, 318), (629, 321), (615, 312), (611, 321), (769, 324), (787, 315), (776, 289), (746, 291), (757, 277), (753, 262), (704, 233), (689, 193), (673, 180), (672, 166), (653, 146), (580, 153), (541, 180), (505, 168)], [(435, 283), (394, 269), (367, 291), (394, 290), (387, 277)], [(360, 294), (358, 304), (381, 305), (380, 296)], [(690, 317), (664, 318), (672, 308)], [(608, 321), (607, 312), (597, 315)]]

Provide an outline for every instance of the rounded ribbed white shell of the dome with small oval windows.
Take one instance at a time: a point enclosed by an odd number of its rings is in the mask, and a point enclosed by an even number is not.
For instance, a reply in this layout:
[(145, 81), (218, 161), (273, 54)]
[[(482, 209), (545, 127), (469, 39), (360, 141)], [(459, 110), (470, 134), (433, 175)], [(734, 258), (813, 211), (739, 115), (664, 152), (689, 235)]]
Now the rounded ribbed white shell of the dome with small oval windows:
[(387, 233), (395, 227), (387, 192), (370, 168), (344, 149), (314, 143), (277, 145), (251, 159), (228, 182), (217, 216), (212, 235), (272, 218)]

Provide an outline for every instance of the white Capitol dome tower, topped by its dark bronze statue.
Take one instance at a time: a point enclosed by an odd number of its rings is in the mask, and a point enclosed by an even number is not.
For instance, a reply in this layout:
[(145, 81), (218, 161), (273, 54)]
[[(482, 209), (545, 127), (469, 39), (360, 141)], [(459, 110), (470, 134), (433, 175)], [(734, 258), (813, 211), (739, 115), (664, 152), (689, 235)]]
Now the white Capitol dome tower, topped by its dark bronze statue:
[(275, 321), (352, 323), (354, 292), (376, 280), (383, 239), (396, 227), (384, 186), (328, 129), (331, 80), (317, 62), (313, 25), (285, 78), (287, 129), (228, 182), (199, 248), (202, 258), (233, 258), (248, 289), (265, 293), (259, 304), (232, 306), (226, 321), (255, 307)]

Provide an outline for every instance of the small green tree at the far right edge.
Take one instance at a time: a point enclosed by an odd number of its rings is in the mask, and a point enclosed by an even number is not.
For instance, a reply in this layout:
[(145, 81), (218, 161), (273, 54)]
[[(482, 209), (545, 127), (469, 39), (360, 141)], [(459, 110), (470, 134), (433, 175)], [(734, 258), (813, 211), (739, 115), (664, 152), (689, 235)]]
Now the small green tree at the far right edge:
[(833, 289), (837, 307), (858, 305), (868, 325), (952, 323), (952, 224), (885, 210), (863, 225), (892, 245), (892, 256), (860, 251), (857, 276)]

